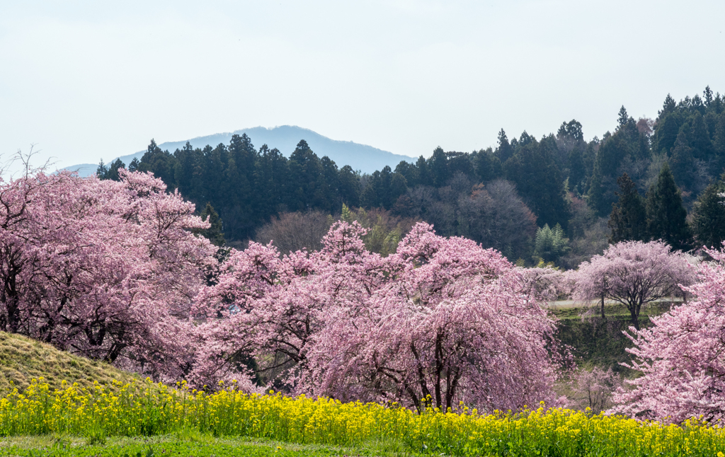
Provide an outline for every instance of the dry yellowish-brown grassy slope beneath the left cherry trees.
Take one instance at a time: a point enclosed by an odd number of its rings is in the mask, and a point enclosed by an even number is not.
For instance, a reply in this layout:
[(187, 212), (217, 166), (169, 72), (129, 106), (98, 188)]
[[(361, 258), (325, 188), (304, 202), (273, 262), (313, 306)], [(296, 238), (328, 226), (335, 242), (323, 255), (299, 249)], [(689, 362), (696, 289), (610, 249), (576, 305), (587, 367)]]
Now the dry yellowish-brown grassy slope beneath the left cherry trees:
[(94, 380), (101, 384), (112, 380), (130, 382), (136, 376), (28, 337), (0, 332), (0, 395), (12, 387), (22, 390), (30, 385), (30, 380), (39, 377), (44, 377), (53, 389), (64, 380), (88, 387)]

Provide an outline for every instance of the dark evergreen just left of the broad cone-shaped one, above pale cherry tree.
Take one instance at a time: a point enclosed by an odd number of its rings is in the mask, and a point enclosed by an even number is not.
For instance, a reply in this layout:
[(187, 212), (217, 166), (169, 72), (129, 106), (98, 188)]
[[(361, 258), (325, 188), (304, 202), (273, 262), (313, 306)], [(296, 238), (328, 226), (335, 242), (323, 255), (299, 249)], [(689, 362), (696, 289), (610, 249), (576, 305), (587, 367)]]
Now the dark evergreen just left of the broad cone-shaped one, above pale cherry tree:
[(612, 230), (610, 243), (619, 241), (644, 241), (647, 238), (647, 213), (645, 201), (637, 192), (637, 185), (624, 173), (617, 178), (620, 192), (612, 205), (608, 225)]

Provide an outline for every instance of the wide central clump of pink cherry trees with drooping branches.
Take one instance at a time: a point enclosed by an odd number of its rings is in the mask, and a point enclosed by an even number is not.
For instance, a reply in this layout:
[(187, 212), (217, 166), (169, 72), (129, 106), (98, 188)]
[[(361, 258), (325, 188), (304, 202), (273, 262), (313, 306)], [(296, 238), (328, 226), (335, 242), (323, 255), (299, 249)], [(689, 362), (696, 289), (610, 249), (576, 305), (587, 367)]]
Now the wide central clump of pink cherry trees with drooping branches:
[(198, 379), (239, 373), (244, 355), (295, 392), (344, 400), (555, 401), (554, 322), (500, 253), (421, 223), (383, 258), (363, 235), (337, 222), (320, 251), (280, 257), (252, 243), (232, 253), (199, 293)]

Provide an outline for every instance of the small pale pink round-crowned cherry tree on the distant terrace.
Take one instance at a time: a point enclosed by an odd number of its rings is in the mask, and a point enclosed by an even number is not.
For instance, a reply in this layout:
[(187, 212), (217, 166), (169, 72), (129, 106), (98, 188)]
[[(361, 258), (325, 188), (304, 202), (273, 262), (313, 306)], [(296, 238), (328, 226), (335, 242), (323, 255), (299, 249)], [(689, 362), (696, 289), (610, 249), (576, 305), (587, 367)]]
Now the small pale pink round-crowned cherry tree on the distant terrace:
[(622, 303), (639, 330), (642, 306), (673, 295), (684, 296), (684, 287), (695, 280), (695, 269), (684, 253), (672, 251), (662, 241), (623, 241), (582, 262), (572, 277), (575, 299), (601, 300), (602, 316), (605, 299)]

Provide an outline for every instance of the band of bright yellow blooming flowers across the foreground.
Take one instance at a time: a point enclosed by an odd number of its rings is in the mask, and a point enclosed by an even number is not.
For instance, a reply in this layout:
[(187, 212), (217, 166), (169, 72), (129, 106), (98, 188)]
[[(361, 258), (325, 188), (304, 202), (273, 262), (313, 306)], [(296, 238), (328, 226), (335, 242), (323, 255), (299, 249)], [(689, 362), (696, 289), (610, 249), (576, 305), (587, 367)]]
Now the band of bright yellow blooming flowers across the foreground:
[(0, 399), (0, 436), (67, 434), (94, 439), (193, 430), (215, 437), (355, 448), (374, 440), (402, 443), (410, 453), (453, 456), (723, 456), (725, 429), (593, 415), (542, 405), (518, 413), (427, 411), (328, 398), (216, 393), (154, 384), (67, 385), (43, 380)]

